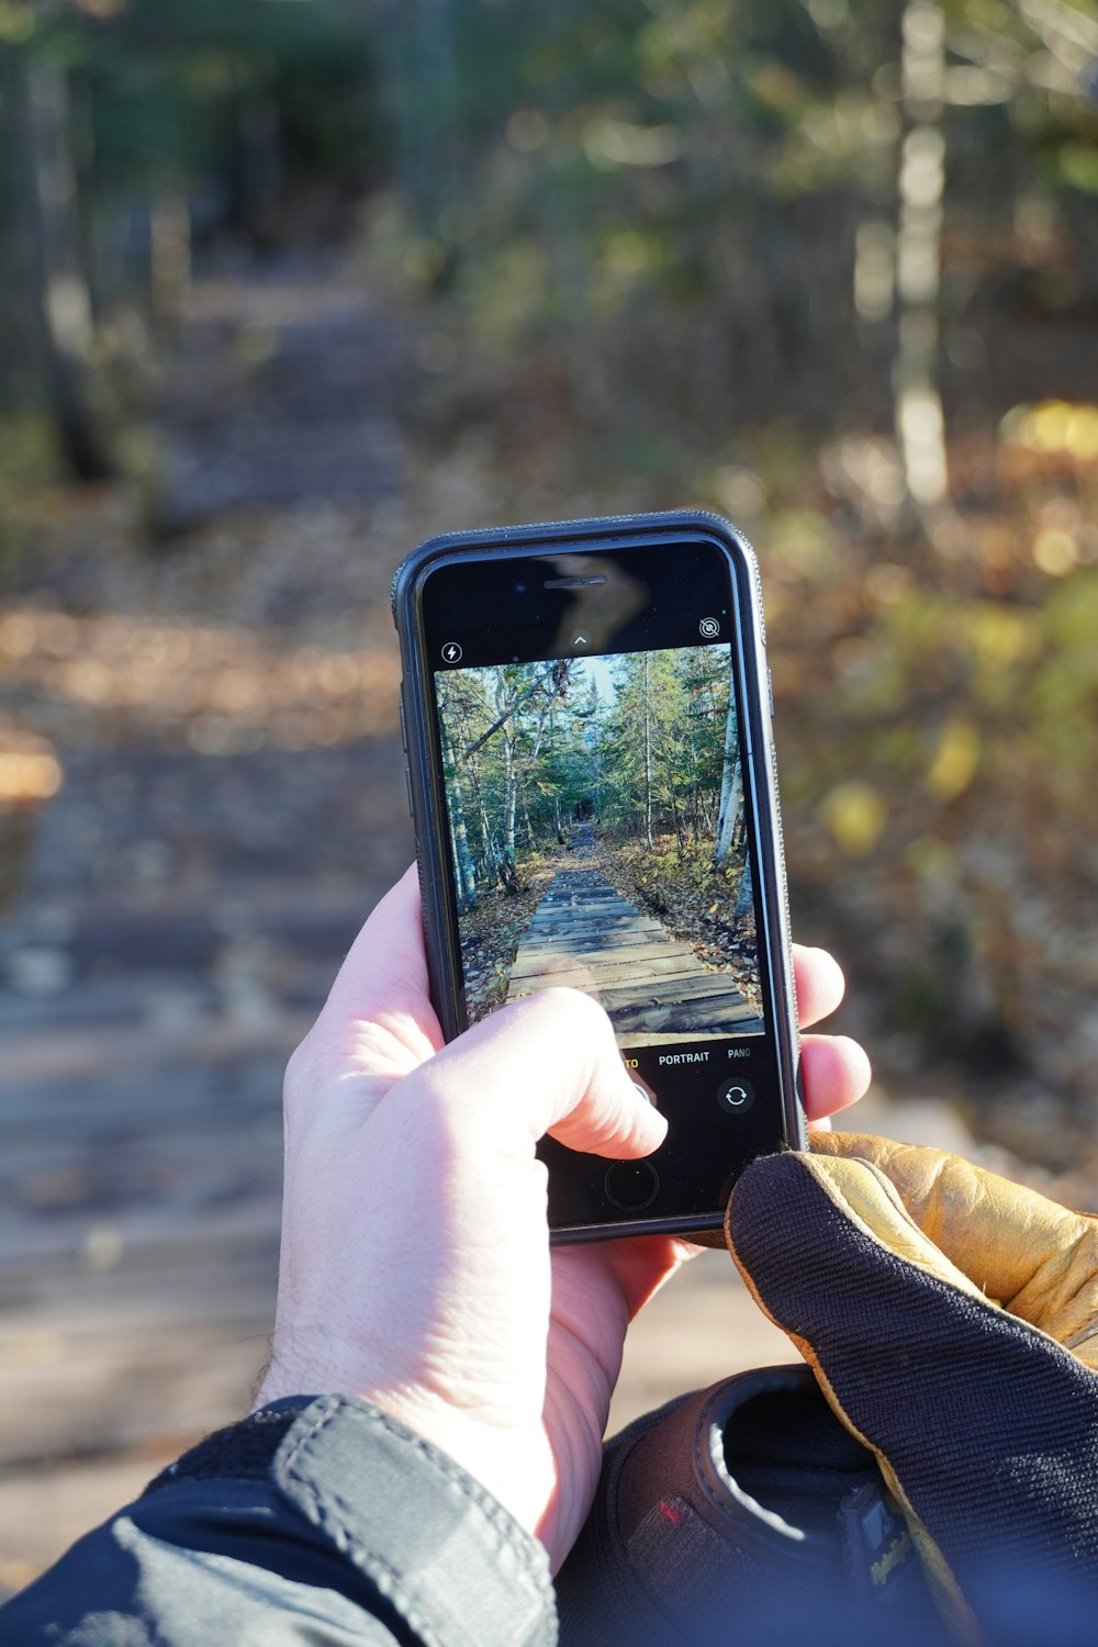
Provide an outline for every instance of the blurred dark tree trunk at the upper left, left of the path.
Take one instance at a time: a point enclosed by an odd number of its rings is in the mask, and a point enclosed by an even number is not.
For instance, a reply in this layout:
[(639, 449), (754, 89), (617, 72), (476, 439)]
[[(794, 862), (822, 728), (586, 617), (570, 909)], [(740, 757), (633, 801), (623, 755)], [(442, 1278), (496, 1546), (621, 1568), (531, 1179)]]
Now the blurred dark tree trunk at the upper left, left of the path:
[(77, 481), (114, 474), (91, 408), (92, 303), (84, 270), (64, 69), (21, 53), (26, 198), (35, 250), (36, 308), (49, 408), (66, 468)]

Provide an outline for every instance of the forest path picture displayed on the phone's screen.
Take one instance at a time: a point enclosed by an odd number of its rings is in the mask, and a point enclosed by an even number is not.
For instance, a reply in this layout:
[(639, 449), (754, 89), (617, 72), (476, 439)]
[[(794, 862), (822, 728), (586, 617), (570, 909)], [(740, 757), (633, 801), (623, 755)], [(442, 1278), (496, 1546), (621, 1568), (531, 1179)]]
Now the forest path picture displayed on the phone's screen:
[(619, 1046), (762, 1034), (728, 646), (435, 687), (469, 1021), (570, 985)]

